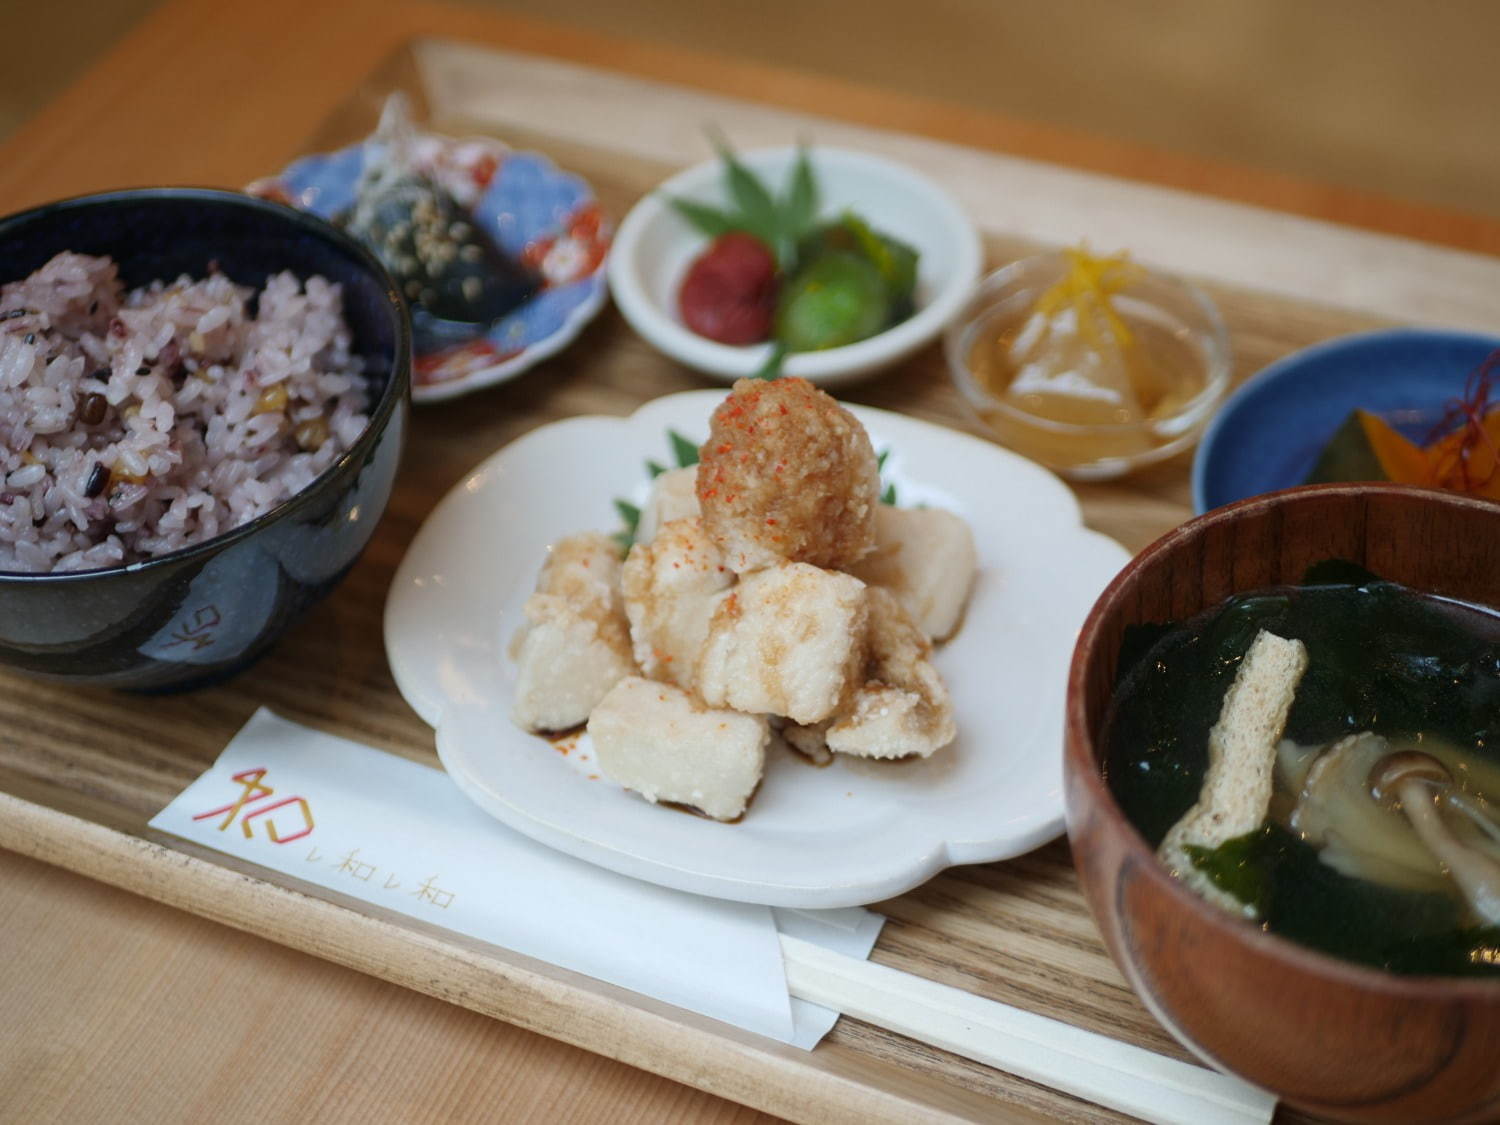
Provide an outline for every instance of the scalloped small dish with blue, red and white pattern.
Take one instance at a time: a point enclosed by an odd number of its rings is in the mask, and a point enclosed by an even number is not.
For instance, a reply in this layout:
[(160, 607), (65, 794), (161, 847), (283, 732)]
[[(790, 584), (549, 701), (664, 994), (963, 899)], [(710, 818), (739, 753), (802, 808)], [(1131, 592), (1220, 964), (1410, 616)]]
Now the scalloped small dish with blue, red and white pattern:
[[(370, 146), (366, 140), (304, 156), (248, 190), (338, 219), (354, 204)], [(540, 153), (514, 152), (488, 136), (458, 140), (429, 132), (417, 134), (412, 152), (417, 168), (472, 212), (476, 225), (543, 278), (542, 290), (525, 304), (464, 344), (424, 342), (422, 310), (412, 310), (411, 398), (436, 402), (514, 378), (572, 344), (604, 306), (612, 230), (592, 189)]]

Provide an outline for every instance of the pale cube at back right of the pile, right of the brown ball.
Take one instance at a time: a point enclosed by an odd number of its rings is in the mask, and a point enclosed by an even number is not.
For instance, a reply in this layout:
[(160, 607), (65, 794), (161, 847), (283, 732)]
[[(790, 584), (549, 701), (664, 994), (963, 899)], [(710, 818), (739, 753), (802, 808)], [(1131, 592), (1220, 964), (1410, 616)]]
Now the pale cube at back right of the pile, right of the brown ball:
[(933, 640), (958, 630), (963, 606), (980, 566), (969, 525), (942, 508), (896, 508), (874, 516), (874, 550), (849, 567), (872, 586), (882, 586)]

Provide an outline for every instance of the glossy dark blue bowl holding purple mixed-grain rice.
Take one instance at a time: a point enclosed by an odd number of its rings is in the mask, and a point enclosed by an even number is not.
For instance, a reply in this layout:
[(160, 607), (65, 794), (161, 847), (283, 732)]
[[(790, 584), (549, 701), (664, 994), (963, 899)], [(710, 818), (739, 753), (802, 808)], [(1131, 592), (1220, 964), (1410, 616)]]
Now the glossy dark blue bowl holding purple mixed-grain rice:
[(54, 680), (172, 690), (261, 656), (358, 558), (390, 498), (411, 398), (411, 334), (390, 278), (328, 224), (236, 192), (110, 192), (0, 219), (0, 282), (54, 254), (110, 255), (128, 286), (208, 262), (242, 285), (278, 270), (344, 286), (370, 423), (296, 496), (216, 538), (123, 567), (0, 573), (0, 663)]

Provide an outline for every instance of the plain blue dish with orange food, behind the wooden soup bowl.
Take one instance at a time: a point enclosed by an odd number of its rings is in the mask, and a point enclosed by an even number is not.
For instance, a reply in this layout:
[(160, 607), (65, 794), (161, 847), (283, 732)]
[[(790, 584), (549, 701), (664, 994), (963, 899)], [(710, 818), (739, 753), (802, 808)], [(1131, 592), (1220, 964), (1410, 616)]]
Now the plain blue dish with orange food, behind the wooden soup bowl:
[(1470, 370), (1500, 336), (1392, 328), (1342, 336), (1287, 356), (1250, 378), (1220, 410), (1192, 460), (1198, 514), (1302, 484), (1318, 453), (1354, 410), (1425, 438), (1462, 396)]

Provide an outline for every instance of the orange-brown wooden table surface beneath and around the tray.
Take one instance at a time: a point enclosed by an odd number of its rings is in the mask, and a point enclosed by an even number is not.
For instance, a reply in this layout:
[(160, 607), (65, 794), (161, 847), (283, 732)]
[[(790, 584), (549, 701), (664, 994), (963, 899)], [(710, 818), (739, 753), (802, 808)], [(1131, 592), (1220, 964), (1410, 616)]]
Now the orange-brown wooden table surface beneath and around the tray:
[[(471, 9), (327, 0), (166, 4), (0, 148), (0, 213), (102, 188), (242, 184), (417, 34), (1500, 252), (1492, 220), (963, 106)], [(0, 950), (0, 1120), (770, 1120), (9, 852)]]

